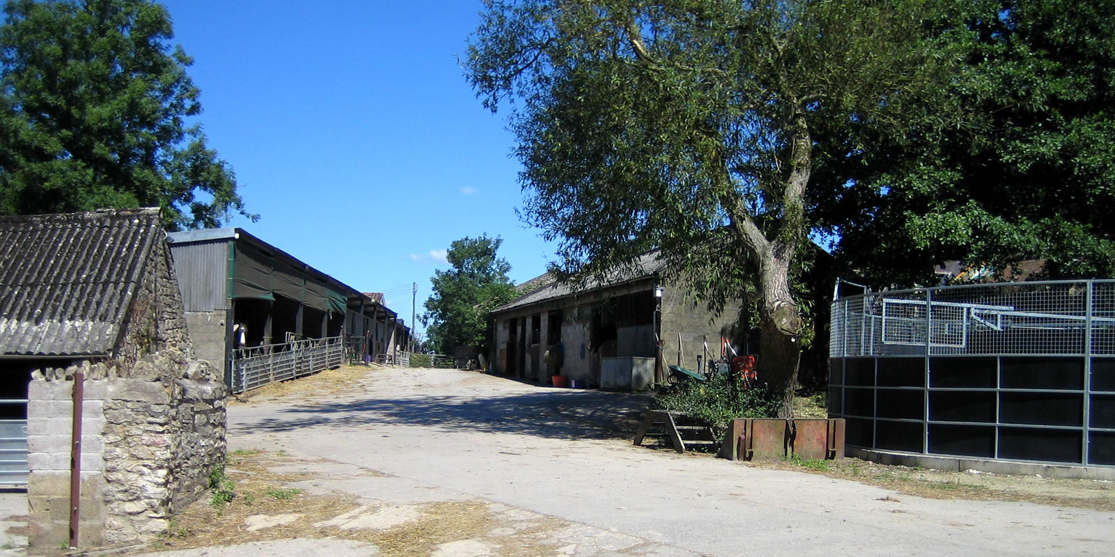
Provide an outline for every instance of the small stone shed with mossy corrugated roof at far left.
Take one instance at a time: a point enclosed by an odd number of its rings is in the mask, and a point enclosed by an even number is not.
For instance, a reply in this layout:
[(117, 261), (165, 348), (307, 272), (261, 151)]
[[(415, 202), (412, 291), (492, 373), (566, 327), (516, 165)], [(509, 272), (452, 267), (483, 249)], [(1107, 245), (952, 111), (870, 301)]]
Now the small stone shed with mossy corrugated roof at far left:
[(165, 532), (224, 462), (226, 390), (157, 208), (0, 217), (0, 480), (27, 485), (32, 547)]

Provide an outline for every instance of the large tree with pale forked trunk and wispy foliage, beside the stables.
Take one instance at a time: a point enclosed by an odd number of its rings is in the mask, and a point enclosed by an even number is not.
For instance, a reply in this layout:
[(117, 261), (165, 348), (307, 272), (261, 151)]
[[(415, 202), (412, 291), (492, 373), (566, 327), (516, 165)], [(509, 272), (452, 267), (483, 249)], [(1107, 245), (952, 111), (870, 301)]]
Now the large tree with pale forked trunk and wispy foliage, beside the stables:
[[(947, 82), (929, 1), (487, 2), (466, 76), (511, 105), (526, 219), (560, 267), (604, 273), (660, 250), (710, 306), (752, 280), (759, 373), (791, 398), (803, 320), (791, 268), (842, 128), (931, 129)], [(899, 133), (901, 131), (901, 134)], [(823, 134), (822, 134), (823, 133)], [(822, 143), (823, 141), (823, 143)], [(831, 194), (825, 194), (831, 195)]]

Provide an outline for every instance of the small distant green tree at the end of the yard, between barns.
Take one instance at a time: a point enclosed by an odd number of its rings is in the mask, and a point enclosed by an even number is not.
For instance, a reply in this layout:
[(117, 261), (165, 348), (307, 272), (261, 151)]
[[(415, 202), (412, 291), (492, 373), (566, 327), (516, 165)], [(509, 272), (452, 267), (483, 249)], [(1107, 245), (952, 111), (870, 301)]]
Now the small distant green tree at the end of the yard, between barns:
[(457, 346), (484, 349), (488, 343), (488, 313), (515, 297), (507, 278), (511, 265), (496, 252), (503, 238), (464, 237), (446, 253), (448, 271), (435, 271), (433, 294), (423, 319), (429, 324), (428, 342), (443, 354)]

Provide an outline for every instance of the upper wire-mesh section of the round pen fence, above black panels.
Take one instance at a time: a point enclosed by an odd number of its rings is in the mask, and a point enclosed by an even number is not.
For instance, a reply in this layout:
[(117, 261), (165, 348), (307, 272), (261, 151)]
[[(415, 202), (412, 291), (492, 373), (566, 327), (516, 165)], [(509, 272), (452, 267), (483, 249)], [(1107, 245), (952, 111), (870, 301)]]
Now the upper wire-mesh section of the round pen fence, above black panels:
[(1115, 281), (872, 292), (835, 300), (831, 358), (1115, 354)]

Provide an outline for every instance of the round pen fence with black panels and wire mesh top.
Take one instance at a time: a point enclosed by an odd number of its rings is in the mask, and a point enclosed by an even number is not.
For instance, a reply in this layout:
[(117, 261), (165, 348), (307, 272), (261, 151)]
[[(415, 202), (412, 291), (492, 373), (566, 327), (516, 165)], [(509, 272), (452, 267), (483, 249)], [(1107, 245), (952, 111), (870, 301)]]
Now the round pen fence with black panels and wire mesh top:
[(831, 335), (850, 447), (1115, 466), (1115, 281), (846, 296)]

